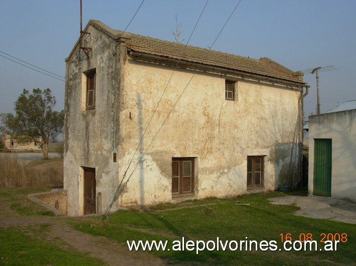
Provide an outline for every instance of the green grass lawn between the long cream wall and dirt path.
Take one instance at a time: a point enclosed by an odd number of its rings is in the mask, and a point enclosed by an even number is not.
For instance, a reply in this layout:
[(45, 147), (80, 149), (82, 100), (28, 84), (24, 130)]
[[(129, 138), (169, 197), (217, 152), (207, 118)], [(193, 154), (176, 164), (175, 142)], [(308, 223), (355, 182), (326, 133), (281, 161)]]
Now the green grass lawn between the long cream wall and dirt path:
[[(76, 221), (75, 228), (94, 235), (102, 235), (117, 242), (127, 240), (167, 240), (166, 248), (170, 251), (129, 251), (152, 252), (155, 256), (166, 259), (171, 263), (205, 263), (205, 264), (354, 264), (356, 261), (356, 226), (354, 224), (329, 220), (305, 218), (292, 213), (298, 209), (294, 205), (273, 205), (268, 202), (269, 197), (279, 196), (281, 193), (243, 195), (229, 199), (207, 198), (202, 200), (183, 201), (176, 204), (160, 204), (151, 211), (120, 210), (111, 215), (105, 222), (100, 217), (92, 217), (87, 221)], [(285, 194), (282, 194), (285, 195)], [(250, 203), (250, 205), (236, 205), (235, 203)], [(205, 205), (204, 205), (205, 204)], [(285, 240), (286, 234), (292, 240), (303, 238), (304, 234), (312, 235), (317, 241), (317, 251), (285, 251), (281, 242), (281, 234)], [(324, 244), (322, 234), (346, 233), (344, 242), (337, 245), (336, 251), (320, 251)], [(343, 235), (345, 236), (345, 235)], [(231, 251), (220, 250), (173, 251), (179, 249), (175, 240), (182, 242), (192, 240), (213, 240), (217, 237), (223, 244), (236, 240), (238, 249)], [(347, 239), (347, 241), (346, 241)], [(275, 247), (266, 251), (245, 251), (243, 243), (240, 251), (240, 240), (275, 241)], [(231, 242), (232, 249), (236, 242)], [(214, 244), (210, 242), (210, 248)], [(202, 247), (202, 244), (200, 245)], [(290, 247), (291, 245), (287, 245)], [(229, 244), (228, 244), (229, 247)], [(299, 247), (297, 245), (296, 247)], [(263, 246), (264, 248), (264, 246)], [(250, 249), (249, 247), (247, 249)], [(281, 249), (281, 250), (279, 250)], [(251, 250), (251, 249), (250, 249)]]

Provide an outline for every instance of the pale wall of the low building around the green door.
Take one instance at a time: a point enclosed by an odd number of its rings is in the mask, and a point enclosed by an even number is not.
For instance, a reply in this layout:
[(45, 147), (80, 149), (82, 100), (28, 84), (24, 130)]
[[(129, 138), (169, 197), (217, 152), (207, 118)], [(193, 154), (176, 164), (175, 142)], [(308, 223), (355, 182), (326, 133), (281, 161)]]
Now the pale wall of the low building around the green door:
[(314, 139), (331, 139), (331, 197), (356, 201), (356, 109), (309, 116), (309, 194), (313, 194)]

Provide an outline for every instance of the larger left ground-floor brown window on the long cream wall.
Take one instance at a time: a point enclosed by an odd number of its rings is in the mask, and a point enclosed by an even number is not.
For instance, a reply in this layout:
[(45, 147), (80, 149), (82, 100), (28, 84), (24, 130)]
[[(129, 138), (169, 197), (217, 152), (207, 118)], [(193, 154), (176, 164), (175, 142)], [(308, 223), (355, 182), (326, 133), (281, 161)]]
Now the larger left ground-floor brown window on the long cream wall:
[(172, 159), (172, 195), (193, 194), (194, 158)]

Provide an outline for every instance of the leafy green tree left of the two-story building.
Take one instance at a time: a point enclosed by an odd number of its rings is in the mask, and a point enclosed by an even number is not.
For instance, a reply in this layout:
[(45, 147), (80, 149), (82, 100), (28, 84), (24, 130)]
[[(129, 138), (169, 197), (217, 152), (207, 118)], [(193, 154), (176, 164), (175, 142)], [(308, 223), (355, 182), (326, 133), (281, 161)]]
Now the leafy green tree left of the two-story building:
[(2, 113), (0, 128), (19, 143), (37, 142), (48, 159), (48, 144), (63, 131), (64, 111), (54, 111), (56, 97), (49, 88), (34, 88), (32, 93), (24, 88), (15, 102), (14, 113)]

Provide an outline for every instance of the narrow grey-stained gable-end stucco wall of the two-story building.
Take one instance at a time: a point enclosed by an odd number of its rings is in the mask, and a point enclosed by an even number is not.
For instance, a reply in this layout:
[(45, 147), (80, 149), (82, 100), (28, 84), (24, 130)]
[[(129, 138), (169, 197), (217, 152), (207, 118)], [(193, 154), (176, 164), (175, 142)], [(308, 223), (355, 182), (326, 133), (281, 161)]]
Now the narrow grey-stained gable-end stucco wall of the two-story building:
[[(95, 168), (96, 210), (105, 210), (117, 186), (119, 44), (93, 26), (83, 38), (89, 59), (77, 45), (67, 60), (65, 96), (64, 189), (68, 215), (83, 214), (83, 167)], [(115, 51), (114, 54), (112, 51)], [(85, 74), (96, 71), (95, 109), (85, 109)]]

